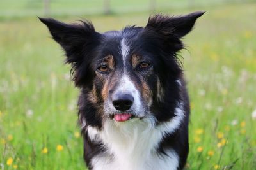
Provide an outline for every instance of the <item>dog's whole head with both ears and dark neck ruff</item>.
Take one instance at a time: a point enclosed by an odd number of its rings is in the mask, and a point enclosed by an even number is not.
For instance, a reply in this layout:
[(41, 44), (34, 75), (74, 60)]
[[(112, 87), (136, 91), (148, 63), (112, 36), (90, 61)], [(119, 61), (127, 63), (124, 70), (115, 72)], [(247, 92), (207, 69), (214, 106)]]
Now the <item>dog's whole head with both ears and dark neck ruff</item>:
[(72, 64), (72, 78), (81, 89), (81, 121), (101, 127), (109, 119), (149, 118), (156, 124), (175, 116), (183, 83), (177, 52), (184, 46), (181, 38), (203, 13), (155, 15), (145, 27), (102, 34), (90, 22), (40, 20)]

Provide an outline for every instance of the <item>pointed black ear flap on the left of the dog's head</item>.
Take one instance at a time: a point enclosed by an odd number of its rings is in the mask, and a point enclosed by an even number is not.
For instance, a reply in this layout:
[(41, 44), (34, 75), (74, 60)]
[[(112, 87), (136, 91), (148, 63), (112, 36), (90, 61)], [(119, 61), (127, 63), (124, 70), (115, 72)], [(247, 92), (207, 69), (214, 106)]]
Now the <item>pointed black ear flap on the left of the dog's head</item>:
[[(79, 60), (77, 53), (91, 50), (97, 44), (100, 34), (95, 32), (92, 23), (86, 21), (81, 24), (65, 24), (52, 18), (39, 18), (49, 29), (52, 38), (65, 50), (67, 62)], [(77, 58), (77, 59), (76, 59)]]

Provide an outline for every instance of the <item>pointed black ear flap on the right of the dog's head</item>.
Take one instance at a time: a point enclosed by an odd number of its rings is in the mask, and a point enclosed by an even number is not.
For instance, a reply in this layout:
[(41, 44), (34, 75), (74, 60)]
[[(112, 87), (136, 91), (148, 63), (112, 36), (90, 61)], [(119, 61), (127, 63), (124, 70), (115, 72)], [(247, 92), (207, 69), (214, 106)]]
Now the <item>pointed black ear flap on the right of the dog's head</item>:
[(146, 29), (153, 29), (163, 36), (182, 38), (191, 31), (195, 21), (202, 16), (204, 11), (197, 11), (188, 15), (170, 17), (165, 15), (154, 15), (148, 19)]

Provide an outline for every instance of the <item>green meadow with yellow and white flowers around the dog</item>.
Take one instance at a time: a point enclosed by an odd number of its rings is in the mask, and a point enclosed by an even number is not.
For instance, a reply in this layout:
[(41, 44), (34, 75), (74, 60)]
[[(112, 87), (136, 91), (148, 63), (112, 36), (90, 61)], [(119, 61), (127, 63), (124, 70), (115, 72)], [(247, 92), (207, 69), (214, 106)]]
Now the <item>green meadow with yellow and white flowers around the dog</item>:
[[(187, 169), (256, 167), (255, 9), (250, 3), (164, 11), (207, 11), (182, 50), (192, 109)], [(83, 18), (103, 32), (145, 25), (148, 13)], [(84, 169), (78, 90), (63, 61), (36, 17), (0, 21), (0, 169)]]

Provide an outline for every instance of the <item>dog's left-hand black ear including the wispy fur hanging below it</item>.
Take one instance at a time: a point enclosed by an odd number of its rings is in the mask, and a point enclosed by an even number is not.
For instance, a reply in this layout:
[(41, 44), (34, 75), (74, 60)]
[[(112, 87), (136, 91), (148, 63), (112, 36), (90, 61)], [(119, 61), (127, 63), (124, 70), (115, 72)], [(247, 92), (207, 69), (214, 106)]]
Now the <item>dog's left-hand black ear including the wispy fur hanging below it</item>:
[[(52, 38), (65, 50), (67, 63), (72, 64), (72, 80), (76, 86), (83, 83), (84, 76), (88, 72), (89, 63), (101, 39), (101, 34), (95, 32), (92, 23), (85, 21), (81, 24), (65, 24), (52, 18), (39, 18), (51, 32)], [(83, 67), (80, 67), (83, 65)]]

